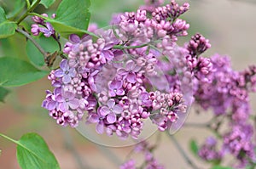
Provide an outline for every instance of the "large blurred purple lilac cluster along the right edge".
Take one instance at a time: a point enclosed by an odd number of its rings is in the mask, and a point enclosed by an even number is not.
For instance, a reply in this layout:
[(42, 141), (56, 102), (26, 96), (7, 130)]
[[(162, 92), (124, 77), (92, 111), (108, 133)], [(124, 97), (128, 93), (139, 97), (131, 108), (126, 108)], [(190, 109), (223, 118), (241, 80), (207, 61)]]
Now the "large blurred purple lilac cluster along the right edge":
[[(218, 54), (210, 61), (212, 71), (207, 74), (208, 81), (195, 82), (195, 101), (205, 110), (212, 109), (219, 119), (227, 120), (229, 128), (219, 133), (222, 146), (217, 152), (223, 156), (233, 155), (239, 161), (236, 167), (243, 168), (256, 161), (249, 104), (249, 93), (255, 92), (255, 66), (241, 72), (232, 70), (230, 59)], [(217, 123), (219, 128), (225, 121)], [(213, 129), (218, 132), (218, 128)], [(203, 145), (199, 155), (208, 161), (206, 155), (212, 153), (211, 146)]]

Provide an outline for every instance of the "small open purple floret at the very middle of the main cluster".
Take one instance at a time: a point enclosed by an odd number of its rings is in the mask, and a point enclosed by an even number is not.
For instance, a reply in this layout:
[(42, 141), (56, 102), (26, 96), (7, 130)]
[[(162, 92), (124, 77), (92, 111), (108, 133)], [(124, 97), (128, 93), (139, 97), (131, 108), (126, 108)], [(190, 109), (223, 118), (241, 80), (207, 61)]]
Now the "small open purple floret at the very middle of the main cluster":
[(122, 96), (125, 94), (122, 81), (113, 80), (109, 83), (108, 88), (108, 94), (110, 97)]

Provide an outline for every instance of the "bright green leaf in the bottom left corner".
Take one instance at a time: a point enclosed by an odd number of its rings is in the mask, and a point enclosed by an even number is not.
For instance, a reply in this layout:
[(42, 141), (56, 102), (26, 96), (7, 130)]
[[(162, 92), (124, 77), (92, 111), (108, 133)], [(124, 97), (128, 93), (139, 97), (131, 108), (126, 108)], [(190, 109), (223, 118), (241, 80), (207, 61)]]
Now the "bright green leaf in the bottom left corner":
[(44, 138), (37, 133), (26, 133), (17, 144), (17, 159), (22, 169), (60, 168)]

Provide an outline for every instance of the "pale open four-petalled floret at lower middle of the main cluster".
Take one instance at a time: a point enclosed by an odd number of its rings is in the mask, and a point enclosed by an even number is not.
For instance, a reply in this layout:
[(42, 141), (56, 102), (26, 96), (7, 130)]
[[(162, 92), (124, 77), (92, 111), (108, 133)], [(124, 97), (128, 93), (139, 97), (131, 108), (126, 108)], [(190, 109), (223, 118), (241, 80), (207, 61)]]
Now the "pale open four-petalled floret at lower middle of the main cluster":
[(123, 108), (119, 104), (115, 104), (114, 99), (109, 99), (107, 106), (102, 106), (101, 115), (107, 116), (107, 121), (112, 124), (116, 121), (116, 115), (119, 115), (123, 111)]

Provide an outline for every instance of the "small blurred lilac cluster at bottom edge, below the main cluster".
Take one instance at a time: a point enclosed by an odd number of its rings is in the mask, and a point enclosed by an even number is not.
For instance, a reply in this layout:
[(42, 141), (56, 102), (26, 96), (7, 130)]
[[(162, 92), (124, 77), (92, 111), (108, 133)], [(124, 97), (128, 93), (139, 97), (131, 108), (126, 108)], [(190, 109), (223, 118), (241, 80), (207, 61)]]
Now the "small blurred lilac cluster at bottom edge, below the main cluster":
[[(134, 151), (136, 153), (143, 153), (144, 155), (144, 162), (143, 168), (144, 169), (164, 169), (164, 166), (160, 165), (159, 162), (154, 158), (152, 151), (154, 150), (154, 146), (150, 146), (147, 142), (143, 141), (135, 147)], [(142, 167), (139, 167), (142, 168)], [(126, 161), (124, 164), (119, 166), (119, 169), (137, 169), (136, 161), (129, 160)]]

